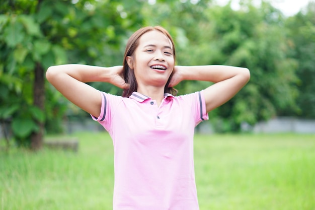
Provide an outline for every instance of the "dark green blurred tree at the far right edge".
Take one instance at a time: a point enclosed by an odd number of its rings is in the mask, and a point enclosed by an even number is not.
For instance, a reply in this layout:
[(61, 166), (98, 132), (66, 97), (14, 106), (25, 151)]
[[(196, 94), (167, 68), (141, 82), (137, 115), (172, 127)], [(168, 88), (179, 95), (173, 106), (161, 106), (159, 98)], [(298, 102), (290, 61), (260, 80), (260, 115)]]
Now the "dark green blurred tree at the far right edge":
[(315, 2), (286, 21), (292, 58), (298, 60), (299, 96), (297, 103), (303, 118), (315, 118)]

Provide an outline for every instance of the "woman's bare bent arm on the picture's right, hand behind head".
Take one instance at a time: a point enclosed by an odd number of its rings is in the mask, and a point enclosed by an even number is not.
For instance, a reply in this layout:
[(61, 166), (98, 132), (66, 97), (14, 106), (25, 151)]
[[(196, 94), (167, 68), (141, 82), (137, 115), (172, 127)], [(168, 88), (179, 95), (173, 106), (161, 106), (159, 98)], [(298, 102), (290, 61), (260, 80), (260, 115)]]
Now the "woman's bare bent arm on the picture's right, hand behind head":
[(207, 112), (224, 104), (250, 80), (248, 68), (227, 65), (175, 66), (170, 86), (183, 80), (209, 81), (215, 84), (204, 90)]

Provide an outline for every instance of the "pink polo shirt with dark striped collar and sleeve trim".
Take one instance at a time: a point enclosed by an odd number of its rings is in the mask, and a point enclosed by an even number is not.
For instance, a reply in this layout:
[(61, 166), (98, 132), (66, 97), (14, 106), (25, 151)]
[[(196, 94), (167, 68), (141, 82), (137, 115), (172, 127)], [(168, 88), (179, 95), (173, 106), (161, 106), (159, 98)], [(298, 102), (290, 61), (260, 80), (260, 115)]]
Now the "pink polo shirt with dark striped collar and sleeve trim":
[(197, 210), (193, 136), (208, 119), (203, 91), (156, 101), (101, 92), (97, 120), (114, 145), (114, 210)]

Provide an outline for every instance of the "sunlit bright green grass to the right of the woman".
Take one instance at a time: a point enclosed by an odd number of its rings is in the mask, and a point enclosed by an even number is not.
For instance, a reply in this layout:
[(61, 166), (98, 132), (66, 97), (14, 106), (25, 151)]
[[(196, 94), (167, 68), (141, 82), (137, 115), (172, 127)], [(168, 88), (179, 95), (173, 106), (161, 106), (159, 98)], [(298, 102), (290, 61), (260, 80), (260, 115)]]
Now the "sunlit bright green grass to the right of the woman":
[(195, 137), (201, 209), (314, 209), (315, 138)]

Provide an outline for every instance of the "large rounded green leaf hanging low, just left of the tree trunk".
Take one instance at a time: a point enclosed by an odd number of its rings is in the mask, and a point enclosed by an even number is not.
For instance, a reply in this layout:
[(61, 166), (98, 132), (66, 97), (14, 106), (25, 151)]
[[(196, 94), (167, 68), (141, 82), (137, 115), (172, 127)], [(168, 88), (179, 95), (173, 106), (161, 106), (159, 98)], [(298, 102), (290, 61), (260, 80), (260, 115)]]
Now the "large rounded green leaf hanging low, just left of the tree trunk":
[(27, 137), (37, 128), (38, 126), (34, 120), (30, 118), (14, 118), (12, 121), (12, 130), (18, 137)]

